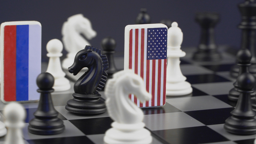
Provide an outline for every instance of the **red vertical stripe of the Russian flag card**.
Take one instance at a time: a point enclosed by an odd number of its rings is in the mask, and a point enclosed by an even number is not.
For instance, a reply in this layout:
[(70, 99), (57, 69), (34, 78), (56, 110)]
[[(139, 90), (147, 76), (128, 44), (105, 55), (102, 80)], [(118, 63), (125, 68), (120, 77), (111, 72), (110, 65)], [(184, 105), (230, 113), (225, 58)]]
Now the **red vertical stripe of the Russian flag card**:
[(16, 101), (16, 26), (4, 27), (4, 100)]

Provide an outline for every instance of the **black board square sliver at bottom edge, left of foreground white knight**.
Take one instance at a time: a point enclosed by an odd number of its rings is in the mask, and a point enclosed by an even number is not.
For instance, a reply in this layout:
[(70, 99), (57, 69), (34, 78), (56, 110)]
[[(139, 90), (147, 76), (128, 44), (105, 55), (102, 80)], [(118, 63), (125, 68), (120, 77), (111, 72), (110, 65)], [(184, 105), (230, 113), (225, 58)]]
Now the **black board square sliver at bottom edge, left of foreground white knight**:
[(30, 144), (94, 144), (88, 137), (58, 137), (37, 140), (27, 140)]

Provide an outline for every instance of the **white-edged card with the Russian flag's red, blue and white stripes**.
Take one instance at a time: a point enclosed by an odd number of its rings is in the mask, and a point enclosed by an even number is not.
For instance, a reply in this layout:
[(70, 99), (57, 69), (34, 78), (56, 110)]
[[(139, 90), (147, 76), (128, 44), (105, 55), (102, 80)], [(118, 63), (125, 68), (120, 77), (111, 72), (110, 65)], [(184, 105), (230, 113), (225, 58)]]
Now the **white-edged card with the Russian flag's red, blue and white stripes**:
[(41, 73), (42, 26), (37, 21), (16, 21), (0, 26), (0, 97), (10, 101), (38, 101), (36, 77)]

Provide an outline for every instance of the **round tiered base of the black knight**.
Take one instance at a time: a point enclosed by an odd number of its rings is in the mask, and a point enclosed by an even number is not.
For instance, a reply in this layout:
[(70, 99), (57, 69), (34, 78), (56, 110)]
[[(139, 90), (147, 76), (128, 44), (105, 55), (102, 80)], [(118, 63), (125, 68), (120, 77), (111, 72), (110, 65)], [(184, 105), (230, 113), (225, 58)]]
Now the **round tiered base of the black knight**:
[(107, 111), (100, 94), (82, 95), (73, 93), (74, 98), (67, 102), (66, 110), (78, 114), (101, 114)]

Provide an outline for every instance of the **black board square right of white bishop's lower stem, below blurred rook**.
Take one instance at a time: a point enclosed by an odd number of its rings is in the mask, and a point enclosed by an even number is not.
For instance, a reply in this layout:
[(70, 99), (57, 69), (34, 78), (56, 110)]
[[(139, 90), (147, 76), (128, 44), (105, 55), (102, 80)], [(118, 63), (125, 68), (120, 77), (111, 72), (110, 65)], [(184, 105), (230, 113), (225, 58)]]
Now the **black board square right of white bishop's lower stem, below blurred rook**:
[(231, 82), (230, 80), (215, 74), (186, 75), (186, 77), (187, 77), (187, 82), (189, 82), (190, 84)]

